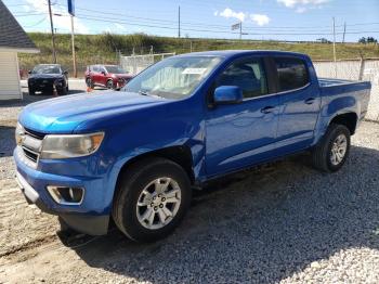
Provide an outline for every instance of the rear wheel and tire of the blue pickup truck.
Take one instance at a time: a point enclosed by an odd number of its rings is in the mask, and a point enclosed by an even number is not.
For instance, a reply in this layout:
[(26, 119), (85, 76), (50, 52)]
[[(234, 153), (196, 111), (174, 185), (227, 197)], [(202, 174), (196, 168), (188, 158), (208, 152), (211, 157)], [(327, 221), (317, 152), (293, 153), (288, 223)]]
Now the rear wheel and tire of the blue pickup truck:
[(349, 152), (350, 130), (343, 125), (331, 124), (312, 151), (312, 164), (318, 170), (334, 172), (343, 166)]

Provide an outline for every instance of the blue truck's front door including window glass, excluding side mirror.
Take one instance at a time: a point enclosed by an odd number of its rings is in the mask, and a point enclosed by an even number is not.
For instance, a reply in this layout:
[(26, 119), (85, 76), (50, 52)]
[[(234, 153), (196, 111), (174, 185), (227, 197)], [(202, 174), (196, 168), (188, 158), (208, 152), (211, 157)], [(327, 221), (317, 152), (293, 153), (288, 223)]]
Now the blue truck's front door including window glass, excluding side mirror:
[(220, 86), (237, 86), (244, 101), (215, 105), (206, 118), (206, 168), (209, 176), (233, 171), (259, 163), (275, 153), (278, 99), (271, 95), (262, 59), (233, 62), (215, 80)]

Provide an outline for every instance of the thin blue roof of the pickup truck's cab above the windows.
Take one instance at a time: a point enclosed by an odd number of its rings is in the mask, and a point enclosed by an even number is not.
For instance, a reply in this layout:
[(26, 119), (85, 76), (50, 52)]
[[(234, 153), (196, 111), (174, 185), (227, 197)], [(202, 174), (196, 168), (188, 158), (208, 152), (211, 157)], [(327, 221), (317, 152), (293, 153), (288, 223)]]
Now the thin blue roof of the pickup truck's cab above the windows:
[(259, 54), (259, 55), (291, 55), (291, 56), (300, 56), (308, 57), (308, 55), (298, 52), (289, 52), (289, 51), (279, 51), (279, 50), (215, 50), (215, 51), (201, 51), (201, 52), (192, 52), (181, 54), (179, 56), (222, 56), (222, 57), (234, 57), (238, 55), (249, 55), (249, 54)]

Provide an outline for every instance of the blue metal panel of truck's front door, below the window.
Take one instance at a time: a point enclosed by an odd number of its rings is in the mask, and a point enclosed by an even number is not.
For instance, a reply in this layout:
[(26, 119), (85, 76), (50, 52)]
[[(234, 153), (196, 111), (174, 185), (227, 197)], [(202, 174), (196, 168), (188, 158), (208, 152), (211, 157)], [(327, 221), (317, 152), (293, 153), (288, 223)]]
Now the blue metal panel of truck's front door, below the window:
[[(264, 113), (264, 107), (273, 107)], [(259, 163), (274, 155), (278, 122), (275, 95), (251, 99), (209, 111), (207, 131), (207, 173), (218, 175)]]

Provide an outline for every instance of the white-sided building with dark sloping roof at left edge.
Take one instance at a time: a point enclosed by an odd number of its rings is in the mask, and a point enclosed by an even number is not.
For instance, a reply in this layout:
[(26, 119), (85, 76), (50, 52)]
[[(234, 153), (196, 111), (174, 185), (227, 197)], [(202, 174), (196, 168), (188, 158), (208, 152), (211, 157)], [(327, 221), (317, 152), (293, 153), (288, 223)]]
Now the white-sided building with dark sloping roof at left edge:
[(39, 50), (0, 0), (0, 101), (23, 99), (18, 52), (37, 53)]

